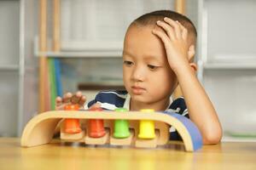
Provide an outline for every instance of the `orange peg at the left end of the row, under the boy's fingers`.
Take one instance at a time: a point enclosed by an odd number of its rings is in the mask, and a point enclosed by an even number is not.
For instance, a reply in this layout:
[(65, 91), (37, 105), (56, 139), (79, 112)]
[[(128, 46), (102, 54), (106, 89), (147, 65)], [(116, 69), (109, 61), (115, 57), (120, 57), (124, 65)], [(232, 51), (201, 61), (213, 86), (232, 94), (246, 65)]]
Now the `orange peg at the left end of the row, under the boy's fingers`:
[[(79, 105), (65, 105), (65, 111), (79, 111)], [(65, 133), (80, 133), (82, 129), (80, 128), (79, 119), (65, 119), (64, 120), (64, 132)]]

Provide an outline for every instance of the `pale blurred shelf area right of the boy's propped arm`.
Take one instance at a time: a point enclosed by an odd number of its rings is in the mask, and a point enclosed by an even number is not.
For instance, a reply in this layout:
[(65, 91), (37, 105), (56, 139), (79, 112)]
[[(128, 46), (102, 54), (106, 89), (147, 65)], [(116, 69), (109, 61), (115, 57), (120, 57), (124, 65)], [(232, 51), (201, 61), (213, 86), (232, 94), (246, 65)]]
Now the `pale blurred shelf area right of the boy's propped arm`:
[(203, 83), (225, 133), (256, 134), (255, 8), (253, 0), (205, 1), (207, 45), (201, 48), (210, 67)]

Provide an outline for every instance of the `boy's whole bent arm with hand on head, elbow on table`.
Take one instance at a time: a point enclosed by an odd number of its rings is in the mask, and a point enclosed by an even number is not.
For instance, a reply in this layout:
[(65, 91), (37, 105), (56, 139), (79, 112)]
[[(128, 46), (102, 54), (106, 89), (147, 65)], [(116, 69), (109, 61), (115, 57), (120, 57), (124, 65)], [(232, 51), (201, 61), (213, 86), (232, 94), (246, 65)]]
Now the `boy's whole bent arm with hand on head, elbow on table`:
[(195, 76), (195, 65), (189, 63), (195, 50), (188, 47), (188, 31), (180, 23), (165, 18), (165, 21), (157, 22), (153, 33), (165, 45), (169, 65), (177, 76), (189, 117), (201, 131), (203, 144), (217, 144), (222, 137), (222, 128), (211, 100)]

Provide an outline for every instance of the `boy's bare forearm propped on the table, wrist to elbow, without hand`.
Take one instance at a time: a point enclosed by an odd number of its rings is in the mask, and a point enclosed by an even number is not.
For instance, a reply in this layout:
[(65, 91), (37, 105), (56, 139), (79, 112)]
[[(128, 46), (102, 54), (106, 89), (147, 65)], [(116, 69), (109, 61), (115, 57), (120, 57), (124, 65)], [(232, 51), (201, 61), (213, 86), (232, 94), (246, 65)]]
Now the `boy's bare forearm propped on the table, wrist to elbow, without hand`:
[(176, 71), (176, 75), (189, 110), (189, 117), (199, 127), (203, 143), (217, 144), (222, 137), (222, 128), (212, 102), (195, 72), (188, 65)]

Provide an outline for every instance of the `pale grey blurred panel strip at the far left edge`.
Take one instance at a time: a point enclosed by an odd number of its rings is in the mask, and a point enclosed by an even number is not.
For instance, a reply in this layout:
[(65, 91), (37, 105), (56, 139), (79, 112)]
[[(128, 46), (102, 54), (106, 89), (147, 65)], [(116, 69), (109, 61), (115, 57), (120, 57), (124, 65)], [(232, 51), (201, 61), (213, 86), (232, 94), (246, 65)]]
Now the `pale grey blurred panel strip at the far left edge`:
[(0, 1), (0, 137), (17, 134), (19, 3), (19, 1)]

